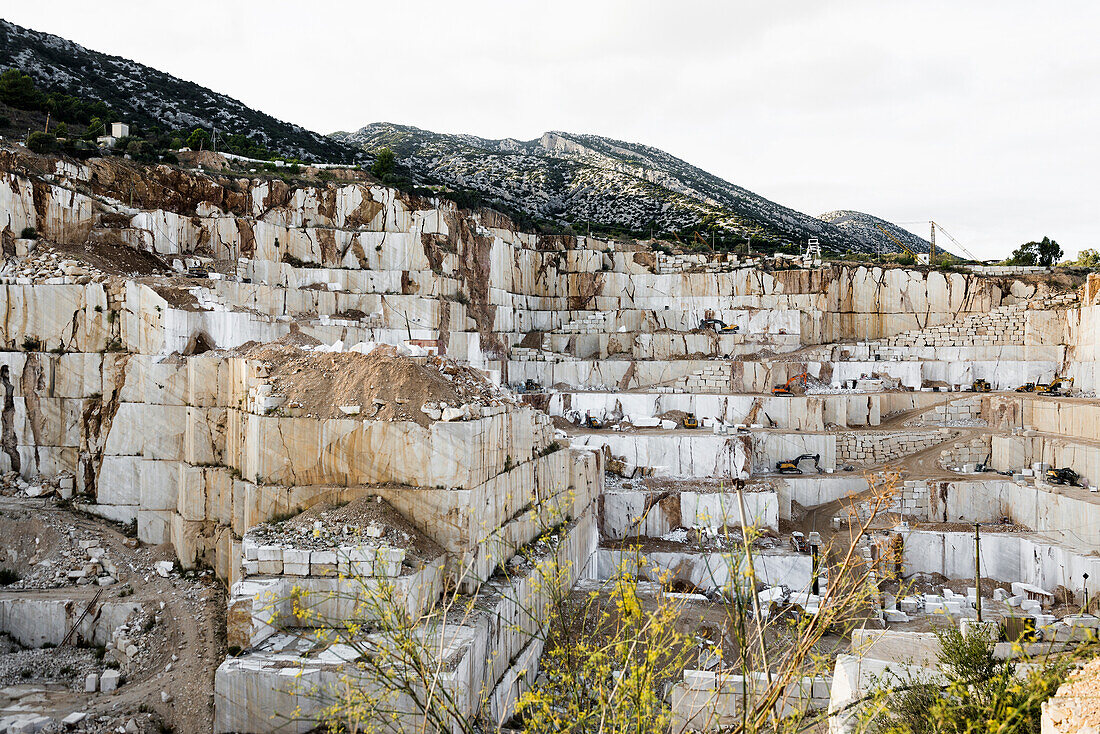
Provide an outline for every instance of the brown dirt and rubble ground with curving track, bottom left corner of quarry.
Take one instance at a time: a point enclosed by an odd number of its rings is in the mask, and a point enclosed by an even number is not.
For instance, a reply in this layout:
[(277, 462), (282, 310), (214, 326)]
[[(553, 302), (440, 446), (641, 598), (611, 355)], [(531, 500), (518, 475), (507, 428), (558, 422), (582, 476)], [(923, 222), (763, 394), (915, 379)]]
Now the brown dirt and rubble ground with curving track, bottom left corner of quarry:
[[(139, 731), (174, 731), (206, 734), (213, 719), (213, 673), (226, 656), (226, 596), (212, 573), (187, 574), (173, 571), (163, 578), (157, 561), (173, 560), (169, 547), (136, 545), (123, 527), (62, 506), (53, 500), (0, 497), (0, 548), (9, 551), (14, 543), (35, 546), (19, 549), (19, 559), (3, 567), (26, 577), (43, 560), (57, 559), (72, 545), (69, 530), (81, 530), (103, 547), (117, 566), (118, 582), (103, 587), (101, 602), (125, 599), (152, 611), (156, 622), (143, 636), (141, 654), (113, 693), (85, 693), (78, 686), (23, 681), (24, 686), (0, 690), (0, 717), (9, 710), (32, 710), (54, 719), (86, 712), (88, 721), (99, 719), (97, 728), (122, 731), (132, 719)], [(136, 547), (134, 547), (136, 545)], [(37, 552), (34, 552), (37, 551)], [(16, 584), (18, 585), (18, 584)], [(82, 607), (99, 587), (52, 585), (35, 589), (0, 587), (0, 596), (74, 600)], [(161, 604), (163, 603), (163, 607)], [(67, 645), (65, 647), (70, 647)], [(65, 647), (53, 650), (66, 653)], [(2, 664), (0, 656), (0, 664)], [(73, 690), (78, 688), (79, 690)], [(162, 691), (168, 693), (165, 702)], [(170, 726), (165, 730), (163, 726)]]

